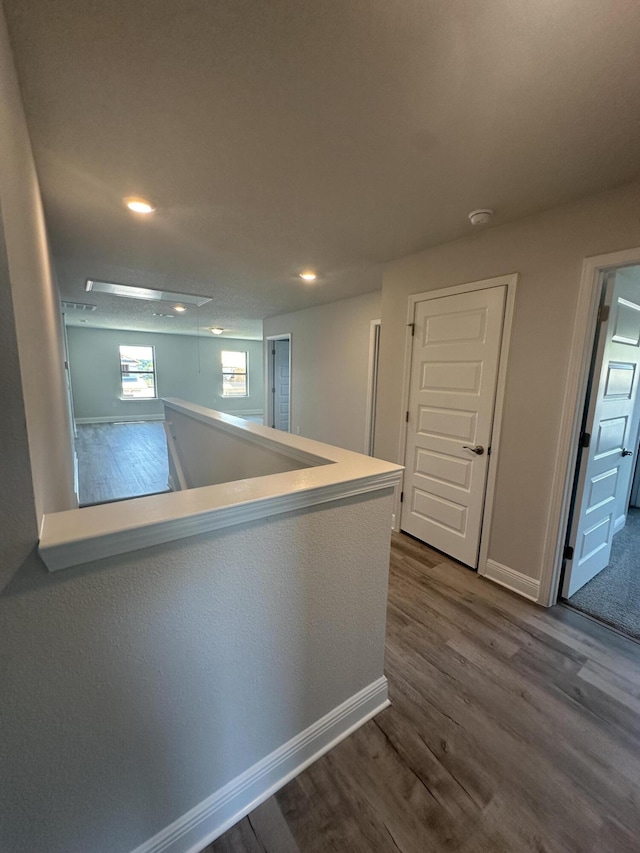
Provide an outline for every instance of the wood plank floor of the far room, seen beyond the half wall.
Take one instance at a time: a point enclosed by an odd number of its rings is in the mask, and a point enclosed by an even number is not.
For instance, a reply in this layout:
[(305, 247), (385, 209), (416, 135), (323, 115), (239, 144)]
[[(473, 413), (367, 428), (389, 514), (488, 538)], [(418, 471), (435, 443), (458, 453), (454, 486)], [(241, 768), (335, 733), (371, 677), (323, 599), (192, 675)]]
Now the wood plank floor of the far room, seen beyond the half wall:
[(79, 424), (76, 453), (81, 506), (167, 491), (161, 421)]

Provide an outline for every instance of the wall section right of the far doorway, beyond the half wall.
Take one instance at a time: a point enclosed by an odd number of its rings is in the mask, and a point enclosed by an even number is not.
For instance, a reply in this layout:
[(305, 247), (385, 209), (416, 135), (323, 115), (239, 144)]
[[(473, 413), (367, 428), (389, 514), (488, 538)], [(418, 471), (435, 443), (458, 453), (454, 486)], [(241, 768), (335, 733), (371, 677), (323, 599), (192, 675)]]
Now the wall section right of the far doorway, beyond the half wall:
[(366, 452), (369, 334), (379, 317), (380, 294), (368, 293), (264, 321), (265, 338), (292, 335), (292, 432)]

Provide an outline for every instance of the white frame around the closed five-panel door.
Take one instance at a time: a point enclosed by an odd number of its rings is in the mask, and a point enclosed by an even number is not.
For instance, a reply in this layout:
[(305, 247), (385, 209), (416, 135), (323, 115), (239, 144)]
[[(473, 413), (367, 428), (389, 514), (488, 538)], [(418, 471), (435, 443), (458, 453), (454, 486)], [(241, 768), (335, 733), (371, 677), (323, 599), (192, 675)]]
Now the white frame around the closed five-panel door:
[[(491, 430), (491, 457), (487, 471), (487, 485), (484, 500), (484, 515), (480, 531), (480, 556), (478, 559), (478, 574), (486, 574), (487, 558), (489, 553), (489, 531), (491, 530), (491, 516), (493, 514), (493, 500), (496, 485), (497, 461), (499, 455), (500, 434), (502, 430), (502, 412), (504, 409), (504, 395), (507, 381), (507, 362), (509, 358), (509, 344), (511, 342), (511, 329), (513, 326), (513, 313), (516, 299), (516, 287), (518, 284), (518, 273), (502, 275), (497, 278), (488, 278), (482, 281), (472, 281), (468, 284), (458, 284), (453, 287), (443, 287), (439, 290), (427, 290), (424, 293), (414, 293), (409, 297), (407, 310), (407, 331), (404, 348), (404, 370), (402, 378), (402, 410), (400, 413), (402, 429), (400, 430), (400, 445), (398, 448), (398, 463), (405, 464), (405, 452), (407, 446), (406, 412), (409, 408), (409, 385), (411, 380), (411, 356), (413, 349), (413, 318), (417, 302), (427, 299), (439, 299), (443, 296), (455, 296), (459, 293), (472, 293), (476, 290), (487, 290), (490, 287), (506, 286), (504, 323), (502, 327), (502, 343), (500, 346), (500, 360), (498, 364), (498, 381), (496, 385), (496, 402), (493, 415), (493, 426)], [(404, 483), (402, 488), (404, 488)], [(396, 489), (394, 507), (394, 530), (400, 530), (400, 494)]]

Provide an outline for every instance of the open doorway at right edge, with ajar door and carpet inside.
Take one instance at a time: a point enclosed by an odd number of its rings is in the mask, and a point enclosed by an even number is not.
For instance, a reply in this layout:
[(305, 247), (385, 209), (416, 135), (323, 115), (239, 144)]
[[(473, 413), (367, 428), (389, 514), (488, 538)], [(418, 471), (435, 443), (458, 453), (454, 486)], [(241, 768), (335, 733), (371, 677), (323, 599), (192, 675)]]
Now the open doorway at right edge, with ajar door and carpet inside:
[(640, 264), (602, 269), (561, 597), (640, 639)]

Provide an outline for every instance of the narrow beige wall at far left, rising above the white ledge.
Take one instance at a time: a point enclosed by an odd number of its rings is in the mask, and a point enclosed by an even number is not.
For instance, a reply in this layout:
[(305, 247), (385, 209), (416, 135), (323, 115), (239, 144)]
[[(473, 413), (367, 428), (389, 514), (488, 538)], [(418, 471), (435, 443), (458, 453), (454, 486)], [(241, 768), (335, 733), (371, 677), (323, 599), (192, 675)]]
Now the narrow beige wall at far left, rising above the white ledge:
[(40, 190), (0, 7), (0, 206), (31, 455), (36, 509), (70, 509), (71, 423), (62, 329)]

